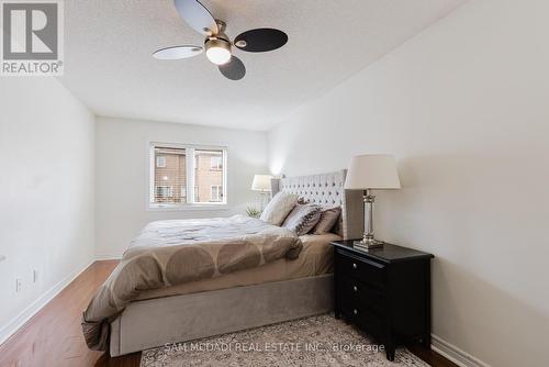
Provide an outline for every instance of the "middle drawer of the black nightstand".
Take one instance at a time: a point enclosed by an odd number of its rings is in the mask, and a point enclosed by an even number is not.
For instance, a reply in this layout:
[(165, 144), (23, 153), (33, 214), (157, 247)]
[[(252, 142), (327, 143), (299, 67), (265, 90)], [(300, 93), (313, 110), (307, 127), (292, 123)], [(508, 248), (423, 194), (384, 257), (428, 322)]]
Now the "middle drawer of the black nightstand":
[(380, 315), (385, 314), (383, 290), (345, 275), (338, 279), (337, 290), (341, 300), (367, 308)]

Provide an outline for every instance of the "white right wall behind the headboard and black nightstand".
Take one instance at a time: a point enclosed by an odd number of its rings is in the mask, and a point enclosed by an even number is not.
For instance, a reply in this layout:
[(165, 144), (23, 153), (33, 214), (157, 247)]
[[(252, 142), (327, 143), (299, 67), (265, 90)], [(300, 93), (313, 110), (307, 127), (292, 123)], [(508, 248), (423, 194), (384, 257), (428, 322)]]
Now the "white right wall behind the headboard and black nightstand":
[(276, 174), (397, 157), (377, 233), (436, 255), (434, 334), (498, 367), (549, 362), (547, 14), (469, 1), (269, 134)]

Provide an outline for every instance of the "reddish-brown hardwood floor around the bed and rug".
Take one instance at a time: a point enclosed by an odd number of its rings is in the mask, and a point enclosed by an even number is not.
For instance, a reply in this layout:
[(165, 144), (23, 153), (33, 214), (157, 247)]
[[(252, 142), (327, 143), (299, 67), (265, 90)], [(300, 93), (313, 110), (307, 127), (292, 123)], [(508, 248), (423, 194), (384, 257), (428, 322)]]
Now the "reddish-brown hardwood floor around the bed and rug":
[[(96, 262), (0, 345), (0, 367), (137, 367), (141, 353), (111, 358), (88, 349), (80, 329), (82, 310), (116, 260)], [(457, 367), (439, 354), (421, 346), (411, 351), (434, 367)]]

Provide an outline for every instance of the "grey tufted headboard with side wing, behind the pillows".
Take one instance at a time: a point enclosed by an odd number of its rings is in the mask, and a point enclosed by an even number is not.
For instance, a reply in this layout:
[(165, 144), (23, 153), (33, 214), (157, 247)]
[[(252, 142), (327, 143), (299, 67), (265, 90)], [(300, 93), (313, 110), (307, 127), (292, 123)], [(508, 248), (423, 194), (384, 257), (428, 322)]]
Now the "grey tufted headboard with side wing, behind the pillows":
[(337, 233), (344, 240), (361, 238), (363, 234), (363, 204), (361, 191), (345, 190), (347, 170), (332, 174), (274, 178), (272, 194), (279, 191), (296, 193), (312, 204), (340, 205), (341, 216)]

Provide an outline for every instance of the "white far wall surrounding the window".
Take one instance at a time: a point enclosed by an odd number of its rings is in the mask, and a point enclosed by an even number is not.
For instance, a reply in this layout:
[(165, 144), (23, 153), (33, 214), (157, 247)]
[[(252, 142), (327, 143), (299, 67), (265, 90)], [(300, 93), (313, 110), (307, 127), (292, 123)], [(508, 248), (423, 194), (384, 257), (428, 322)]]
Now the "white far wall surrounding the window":
[[(147, 211), (149, 142), (227, 146), (227, 209)], [(262, 132), (98, 118), (96, 152), (100, 258), (120, 256), (152, 221), (244, 214), (247, 204), (259, 201), (249, 189), (254, 175), (268, 170)]]

